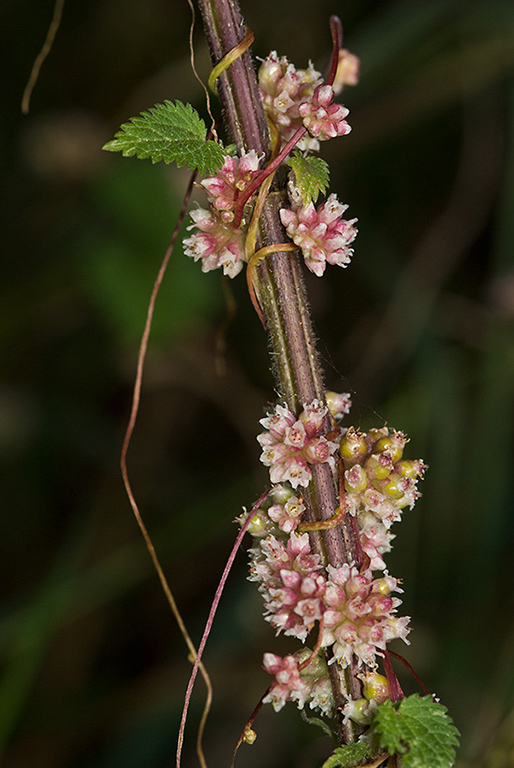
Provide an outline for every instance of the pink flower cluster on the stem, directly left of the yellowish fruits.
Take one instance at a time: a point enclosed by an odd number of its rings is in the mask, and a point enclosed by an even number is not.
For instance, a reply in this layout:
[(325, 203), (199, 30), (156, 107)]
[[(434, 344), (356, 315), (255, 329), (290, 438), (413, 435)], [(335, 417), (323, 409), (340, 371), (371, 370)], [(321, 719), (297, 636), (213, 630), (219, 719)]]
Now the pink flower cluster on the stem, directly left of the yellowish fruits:
[(322, 436), (327, 407), (319, 400), (304, 405), (298, 419), (285, 406), (261, 420), (266, 428), (257, 437), (262, 463), (270, 468), (272, 483), (289, 482), (293, 488), (307, 486), (311, 480), (310, 464), (334, 466), (337, 443)]

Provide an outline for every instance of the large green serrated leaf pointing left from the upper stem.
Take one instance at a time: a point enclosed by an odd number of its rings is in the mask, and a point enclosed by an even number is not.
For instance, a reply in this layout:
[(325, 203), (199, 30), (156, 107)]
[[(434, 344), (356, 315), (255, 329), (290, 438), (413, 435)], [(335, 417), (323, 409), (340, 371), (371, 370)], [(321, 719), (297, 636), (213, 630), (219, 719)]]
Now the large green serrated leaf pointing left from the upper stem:
[(191, 104), (165, 101), (124, 123), (103, 149), (153, 163), (187, 165), (204, 175), (221, 168), (225, 155), (223, 146), (206, 136), (205, 123)]

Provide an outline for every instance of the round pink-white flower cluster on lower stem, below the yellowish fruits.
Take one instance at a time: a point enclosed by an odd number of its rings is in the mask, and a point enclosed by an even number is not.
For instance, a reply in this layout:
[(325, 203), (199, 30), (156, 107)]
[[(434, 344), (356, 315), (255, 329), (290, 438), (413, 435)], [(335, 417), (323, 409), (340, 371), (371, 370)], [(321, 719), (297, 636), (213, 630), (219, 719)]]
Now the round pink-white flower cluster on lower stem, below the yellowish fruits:
[(323, 646), (332, 646), (338, 662), (346, 667), (355, 654), (362, 664), (373, 666), (378, 650), (401, 637), (406, 641), (409, 618), (395, 616), (401, 601), (390, 597), (397, 581), (385, 575), (373, 578), (349, 565), (327, 567), (329, 579), (324, 595)]

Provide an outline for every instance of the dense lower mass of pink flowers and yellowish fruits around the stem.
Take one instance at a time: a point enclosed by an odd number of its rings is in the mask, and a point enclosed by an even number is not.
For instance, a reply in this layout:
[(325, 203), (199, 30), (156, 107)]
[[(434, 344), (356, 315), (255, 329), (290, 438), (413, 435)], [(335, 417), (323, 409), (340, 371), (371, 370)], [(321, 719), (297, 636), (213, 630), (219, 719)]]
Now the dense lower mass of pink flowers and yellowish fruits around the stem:
[[(329, 392), (327, 404), (334, 417), (334, 434), (339, 429), (335, 419), (349, 411), (350, 398)], [(305, 642), (316, 624), (321, 627), (320, 652), (313, 657), (308, 649), (285, 658), (265, 654), (264, 669), (274, 676), (265, 701), (276, 710), (288, 700), (300, 708), (309, 702), (311, 708), (329, 714), (333, 700), (322, 652), (330, 648), (339, 667), (347, 667), (352, 658), (361, 667), (364, 698), (349, 701), (343, 714), (365, 723), (388, 695), (387, 681), (376, 672), (377, 656), (393, 639), (408, 642), (409, 632), (409, 618), (396, 615), (401, 600), (391, 596), (401, 592), (397, 580), (387, 571), (379, 576), (373, 572), (385, 569), (382, 555), (390, 549), (389, 528), (401, 509), (412, 506), (419, 496), (416, 483), (425, 466), (420, 460), (403, 460), (405, 435), (386, 427), (368, 433), (340, 430), (339, 444), (328, 441), (321, 434), (328, 428), (327, 412), (315, 400), (296, 419), (279, 405), (261, 422), (267, 429), (258, 437), (264, 448), (261, 460), (270, 468), (272, 482), (279, 482), (273, 479), (279, 477), (284, 484), (274, 489), (248, 528), (255, 538), (249, 578), (258, 582), (266, 620), (277, 633)], [(360, 570), (355, 564), (324, 569), (308, 534), (301, 527), (298, 532), (305, 505), (290, 486), (296, 489), (310, 481), (310, 441), (319, 440), (330, 446), (324, 460), (331, 467), (334, 446), (339, 448), (347, 512), (357, 516), (361, 547), (367, 555)], [(289, 477), (290, 467), (300, 470)]]

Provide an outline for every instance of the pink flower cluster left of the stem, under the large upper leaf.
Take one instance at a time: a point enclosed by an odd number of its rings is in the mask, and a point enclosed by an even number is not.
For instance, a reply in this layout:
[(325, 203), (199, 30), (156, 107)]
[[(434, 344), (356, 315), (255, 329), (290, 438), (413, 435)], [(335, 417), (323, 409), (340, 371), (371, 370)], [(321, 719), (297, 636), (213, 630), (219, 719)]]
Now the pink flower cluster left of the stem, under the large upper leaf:
[(259, 158), (252, 150), (242, 157), (226, 156), (216, 176), (200, 182), (207, 193), (209, 210), (191, 212), (193, 234), (184, 240), (184, 252), (195, 261), (201, 260), (202, 271), (223, 268), (225, 275), (235, 277), (246, 261), (244, 228), (235, 228), (234, 208), (239, 195), (259, 172)]

